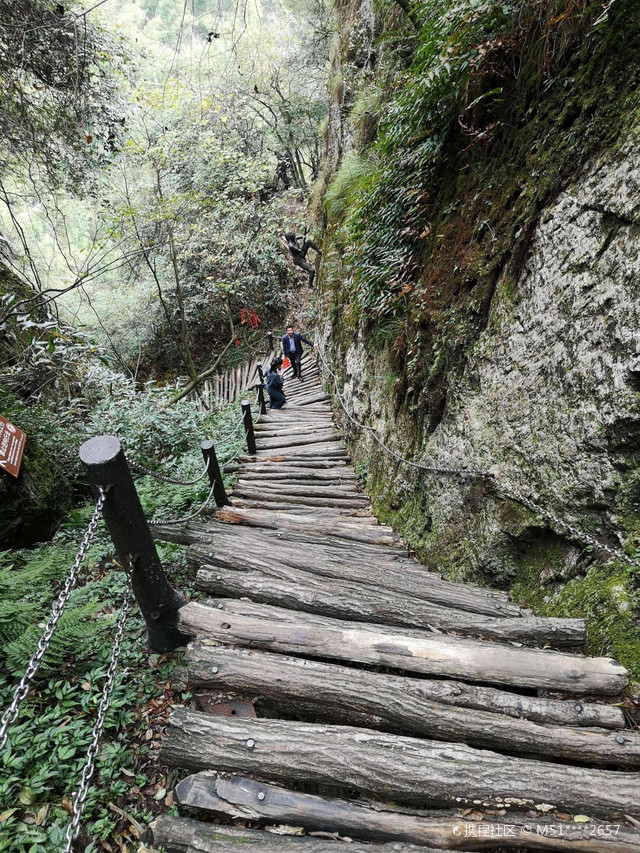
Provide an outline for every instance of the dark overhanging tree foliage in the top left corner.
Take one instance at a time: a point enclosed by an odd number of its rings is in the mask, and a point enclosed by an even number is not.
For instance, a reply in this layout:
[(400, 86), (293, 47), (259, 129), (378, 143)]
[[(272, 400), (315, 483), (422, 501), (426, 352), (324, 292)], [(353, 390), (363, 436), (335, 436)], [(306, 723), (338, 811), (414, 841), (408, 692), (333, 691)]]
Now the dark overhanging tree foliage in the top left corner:
[(105, 159), (122, 117), (116, 75), (126, 59), (118, 35), (84, 11), (76, 2), (0, 2), (0, 185), (15, 170), (77, 189)]

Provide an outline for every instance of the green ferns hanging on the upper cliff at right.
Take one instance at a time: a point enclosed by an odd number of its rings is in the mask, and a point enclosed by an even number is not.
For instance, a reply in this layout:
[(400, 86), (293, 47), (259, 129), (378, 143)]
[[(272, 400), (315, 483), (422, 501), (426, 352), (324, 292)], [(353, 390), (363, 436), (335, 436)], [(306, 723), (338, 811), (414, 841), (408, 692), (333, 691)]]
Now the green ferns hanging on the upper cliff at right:
[(415, 11), (417, 35), (384, 37), (387, 97), (374, 89), (354, 111), (356, 123), (364, 114), (377, 127), (361, 155), (376, 167), (357, 181), (345, 161), (327, 193), (351, 299), (364, 317), (405, 312), (443, 179), (457, 158), (499, 133), (507, 83), (509, 106), (518, 97), (514, 69), (536, 85), (602, 10), (582, 0), (427, 0)]

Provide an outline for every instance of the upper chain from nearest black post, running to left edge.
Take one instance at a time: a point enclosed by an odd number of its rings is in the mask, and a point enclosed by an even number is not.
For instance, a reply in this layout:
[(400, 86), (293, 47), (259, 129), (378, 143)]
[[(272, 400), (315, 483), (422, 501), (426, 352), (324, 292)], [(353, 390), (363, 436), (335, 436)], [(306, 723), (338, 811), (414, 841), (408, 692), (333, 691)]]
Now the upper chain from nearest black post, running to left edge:
[(15, 722), (20, 708), (20, 703), (29, 693), (31, 682), (35, 677), (38, 669), (40, 668), (40, 664), (42, 663), (42, 659), (45, 656), (47, 649), (51, 643), (51, 638), (53, 637), (53, 633), (56, 629), (56, 625), (58, 624), (58, 620), (62, 616), (65, 607), (71, 597), (71, 593), (73, 588), (76, 585), (76, 580), (78, 578), (78, 572), (80, 571), (80, 566), (84, 561), (84, 558), (89, 550), (89, 546), (95, 536), (96, 528), (98, 526), (98, 522), (100, 521), (100, 514), (102, 513), (102, 507), (104, 506), (106, 498), (106, 492), (100, 488), (100, 496), (96, 502), (95, 509), (93, 510), (93, 514), (91, 516), (91, 520), (87, 525), (87, 529), (82, 538), (82, 542), (80, 543), (80, 548), (78, 549), (78, 553), (76, 554), (76, 558), (73, 561), (73, 566), (71, 567), (71, 571), (67, 575), (67, 579), (64, 582), (62, 590), (58, 595), (58, 598), (53, 604), (51, 608), (51, 615), (45, 625), (44, 631), (42, 632), (42, 636), (38, 640), (38, 645), (36, 646), (36, 650), (33, 653), (33, 657), (29, 661), (27, 665), (27, 669), (16, 685), (16, 688), (13, 692), (13, 699), (8, 708), (4, 711), (2, 715), (2, 720), (0, 722), (0, 750), (4, 749), (4, 746), (7, 742), (7, 738), (9, 736), (9, 727)]

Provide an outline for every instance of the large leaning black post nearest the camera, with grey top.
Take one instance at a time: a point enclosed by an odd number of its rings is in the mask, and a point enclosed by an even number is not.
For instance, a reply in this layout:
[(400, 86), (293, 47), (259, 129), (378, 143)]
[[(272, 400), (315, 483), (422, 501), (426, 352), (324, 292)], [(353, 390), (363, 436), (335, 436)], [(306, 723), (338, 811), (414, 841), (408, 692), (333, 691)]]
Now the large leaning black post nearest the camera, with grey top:
[(115, 435), (90, 438), (80, 448), (94, 495), (106, 493), (103, 515), (123, 565), (133, 562), (132, 586), (147, 624), (149, 649), (169, 652), (188, 638), (178, 630), (178, 610), (185, 600), (164, 573), (147, 519)]

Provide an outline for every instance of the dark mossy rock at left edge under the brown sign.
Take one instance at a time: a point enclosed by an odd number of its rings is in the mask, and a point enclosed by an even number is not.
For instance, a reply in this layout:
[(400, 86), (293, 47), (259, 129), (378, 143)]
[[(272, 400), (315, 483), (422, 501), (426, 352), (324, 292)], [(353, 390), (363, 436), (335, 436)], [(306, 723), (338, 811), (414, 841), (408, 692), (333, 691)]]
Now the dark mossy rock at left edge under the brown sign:
[(49, 539), (71, 498), (64, 472), (27, 436), (18, 478), (0, 472), (0, 549), (23, 548)]

